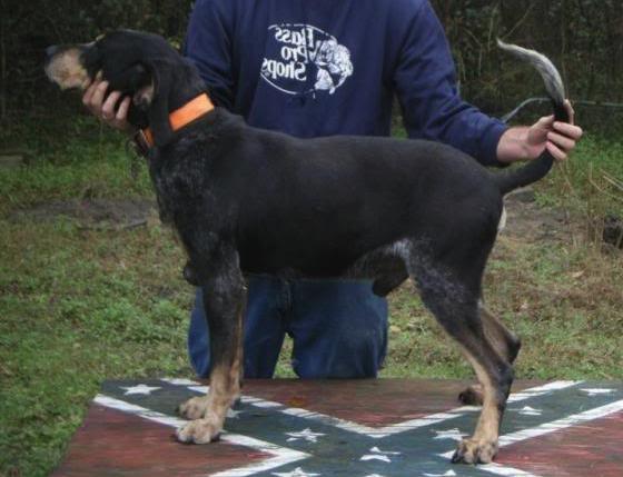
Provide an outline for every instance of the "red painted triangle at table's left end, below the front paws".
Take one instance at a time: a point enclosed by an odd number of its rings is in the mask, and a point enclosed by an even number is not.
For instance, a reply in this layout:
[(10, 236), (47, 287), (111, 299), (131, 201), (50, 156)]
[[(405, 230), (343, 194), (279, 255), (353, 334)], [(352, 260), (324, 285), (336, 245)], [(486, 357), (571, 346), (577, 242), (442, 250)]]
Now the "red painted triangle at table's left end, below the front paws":
[(190, 477), (263, 460), (265, 454), (227, 443), (185, 446), (174, 428), (91, 406), (52, 477)]

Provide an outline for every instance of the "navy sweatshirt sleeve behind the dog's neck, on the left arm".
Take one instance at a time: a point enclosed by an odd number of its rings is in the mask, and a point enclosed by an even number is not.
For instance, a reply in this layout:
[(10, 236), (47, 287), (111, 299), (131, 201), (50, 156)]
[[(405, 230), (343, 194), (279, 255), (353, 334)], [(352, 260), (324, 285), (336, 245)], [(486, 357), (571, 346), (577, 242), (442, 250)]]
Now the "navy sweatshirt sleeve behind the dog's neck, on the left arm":
[(235, 81), (231, 21), (220, 3), (215, 0), (198, 0), (195, 3), (186, 33), (184, 54), (199, 70), (210, 99), (217, 106), (233, 109)]

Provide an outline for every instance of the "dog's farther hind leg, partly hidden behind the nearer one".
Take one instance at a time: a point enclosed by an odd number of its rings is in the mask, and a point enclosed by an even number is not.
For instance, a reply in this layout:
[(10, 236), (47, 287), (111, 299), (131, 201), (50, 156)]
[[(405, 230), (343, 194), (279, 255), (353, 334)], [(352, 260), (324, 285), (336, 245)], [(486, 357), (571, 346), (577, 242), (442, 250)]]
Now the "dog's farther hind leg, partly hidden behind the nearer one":
[[(482, 302), (478, 309), (485, 336), (490, 342), (500, 356), (511, 364), (515, 362), (522, 347), (520, 338), (506, 328), (495, 315), (491, 314)], [(483, 385), (468, 386), (458, 395), (458, 400), (467, 406), (481, 406), (483, 404)]]

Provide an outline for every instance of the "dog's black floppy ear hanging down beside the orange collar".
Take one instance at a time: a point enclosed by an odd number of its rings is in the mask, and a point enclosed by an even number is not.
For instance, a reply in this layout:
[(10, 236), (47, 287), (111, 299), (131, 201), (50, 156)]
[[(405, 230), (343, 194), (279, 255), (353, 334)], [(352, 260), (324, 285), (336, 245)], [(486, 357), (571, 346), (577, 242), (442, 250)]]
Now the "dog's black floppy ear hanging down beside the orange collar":
[(164, 146), (174, 136), (169, 121), (169, 96), (172, 86), (171, 69), (166, 63), (151, 60), (147, 64), (150, 72), (151, 82), (139, 90), (139, 95), (149, 100), (147, 108), (147, 119), (149, 128), (154, 133), (156, 146)]

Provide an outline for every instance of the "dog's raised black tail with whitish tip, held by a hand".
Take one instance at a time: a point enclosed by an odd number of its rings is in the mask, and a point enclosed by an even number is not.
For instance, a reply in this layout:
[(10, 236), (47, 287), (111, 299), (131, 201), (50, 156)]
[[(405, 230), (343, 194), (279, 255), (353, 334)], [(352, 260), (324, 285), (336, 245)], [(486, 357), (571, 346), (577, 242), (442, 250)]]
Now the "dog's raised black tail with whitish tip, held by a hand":
[[(503, 50), (527, 61), (541, 73), (545, 82), (547, 96), (552, 101), (554, 119), (561, 122), (568, 122), (570, 115), (564, 105), (565, 91), (563, 80), (552, 61), (537, 51), (527, 50), (515, 44), (507, 44), (502, 40), (497, 40), (497, 44)], [(542, 179), (550, 172), (553, 163), (553, 156), (545, 149), (538, 158), (531, 160), (527, 165), (518, 169), (494, 175), (494, 181), (500, 187), (502, 195), (505, 195), (518, 187), (524, 187)]]

